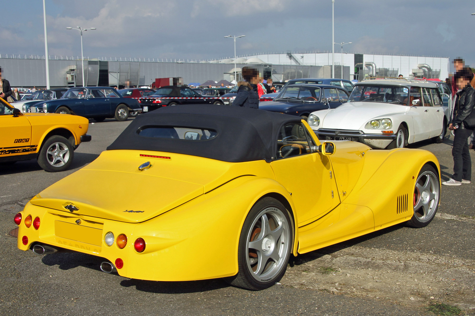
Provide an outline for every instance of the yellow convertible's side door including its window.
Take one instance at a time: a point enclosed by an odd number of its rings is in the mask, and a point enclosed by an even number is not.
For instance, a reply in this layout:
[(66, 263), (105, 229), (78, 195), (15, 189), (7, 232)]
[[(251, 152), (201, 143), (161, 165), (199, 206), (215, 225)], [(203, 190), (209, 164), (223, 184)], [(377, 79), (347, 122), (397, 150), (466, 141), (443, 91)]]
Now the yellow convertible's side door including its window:
[(301, 122), (281, 127), (276, 160), (271, 162), (276, 180), (292, 196), (298, 223), (306, 223), (340, 203), (328, 156), (312, 152), (313, 140)]

